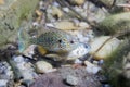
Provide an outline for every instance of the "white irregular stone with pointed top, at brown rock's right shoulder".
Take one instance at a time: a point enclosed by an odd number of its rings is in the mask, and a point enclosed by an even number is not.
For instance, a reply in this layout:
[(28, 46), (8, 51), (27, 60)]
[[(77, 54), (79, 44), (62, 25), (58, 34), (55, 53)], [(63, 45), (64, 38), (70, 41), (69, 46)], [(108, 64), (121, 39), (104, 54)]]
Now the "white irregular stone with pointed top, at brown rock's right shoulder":
[(101, 67), (90, 63), (89, 61), (84, 61), (84, 64), (87, 65), (87, 72), (88, 73), (96, 74), (101, 70)]

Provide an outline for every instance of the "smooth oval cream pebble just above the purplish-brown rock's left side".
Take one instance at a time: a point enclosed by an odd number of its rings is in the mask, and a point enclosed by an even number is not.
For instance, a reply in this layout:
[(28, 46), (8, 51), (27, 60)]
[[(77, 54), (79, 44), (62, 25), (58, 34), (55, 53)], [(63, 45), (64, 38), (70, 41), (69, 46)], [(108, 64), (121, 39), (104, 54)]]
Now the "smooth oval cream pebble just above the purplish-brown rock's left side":
[(53, 71), (53, 66), (46, 61), (38, 61), (36, 67), (38, 73), (49, 73)]

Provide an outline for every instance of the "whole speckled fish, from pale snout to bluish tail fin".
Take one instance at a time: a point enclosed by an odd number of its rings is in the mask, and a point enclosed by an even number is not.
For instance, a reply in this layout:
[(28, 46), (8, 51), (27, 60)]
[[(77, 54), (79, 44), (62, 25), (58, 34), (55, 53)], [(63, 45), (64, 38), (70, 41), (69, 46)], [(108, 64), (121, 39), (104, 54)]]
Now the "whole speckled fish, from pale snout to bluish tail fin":
[(49, 52), (64, 54), (69, 53), (81, 45), (73, 35), (56, 28), (44, 30), (35, 38), (28, 37), (28, 34), (24, 29), (20, 29), (18, 45), (21, 52), (24, 51), (29, 45), (38, 45), (43, 47), (43, 49)]

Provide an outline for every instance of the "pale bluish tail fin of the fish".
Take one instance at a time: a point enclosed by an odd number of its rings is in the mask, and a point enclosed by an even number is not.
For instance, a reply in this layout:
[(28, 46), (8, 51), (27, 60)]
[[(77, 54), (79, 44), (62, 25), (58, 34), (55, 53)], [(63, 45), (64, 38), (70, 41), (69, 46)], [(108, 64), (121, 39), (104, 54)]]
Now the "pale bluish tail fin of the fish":
[(29, 46), (29, 35), (24, 27), (18, 30), (18, 51), (22, 53)]

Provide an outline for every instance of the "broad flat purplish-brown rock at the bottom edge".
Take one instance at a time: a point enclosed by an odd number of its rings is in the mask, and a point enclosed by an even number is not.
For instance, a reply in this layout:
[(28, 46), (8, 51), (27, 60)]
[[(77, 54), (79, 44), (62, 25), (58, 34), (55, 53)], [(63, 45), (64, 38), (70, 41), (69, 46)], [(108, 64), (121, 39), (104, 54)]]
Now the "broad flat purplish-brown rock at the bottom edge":
[[(64, 80), (67, 76), (78, 78), (76, 86), (70, 86)], [(57, 72), (48, 73), (39, 76), (30, 87), (100, 87), (101, 84), (95, 75), (86, 72), (86, 67), (73, 69), (63, 66)]]

